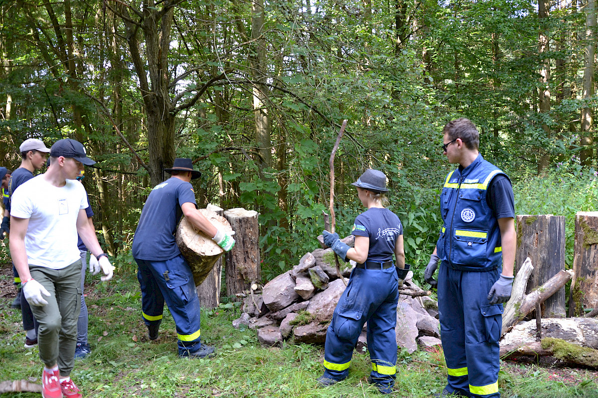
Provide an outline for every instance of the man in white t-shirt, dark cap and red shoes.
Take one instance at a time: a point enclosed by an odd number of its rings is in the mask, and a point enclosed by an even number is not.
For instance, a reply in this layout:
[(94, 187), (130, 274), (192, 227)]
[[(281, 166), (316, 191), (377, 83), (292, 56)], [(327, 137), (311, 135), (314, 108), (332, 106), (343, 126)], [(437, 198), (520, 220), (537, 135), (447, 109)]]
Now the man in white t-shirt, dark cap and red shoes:
[(102, 280), (112, 265), (87, 221), (89, 206), (77, 175), (87, 158), (81, 143), (70, 138), (50, 148), (50, 167), (13, 193), (10, 252), (23, 285), (23, 295), (39, 322), (39, 357), (44, 362), (44, 398), (80, 398), (69, 375), (74, 366), (77, 319), (81, 306), (81, 258), (77, 233), (96, 256)]

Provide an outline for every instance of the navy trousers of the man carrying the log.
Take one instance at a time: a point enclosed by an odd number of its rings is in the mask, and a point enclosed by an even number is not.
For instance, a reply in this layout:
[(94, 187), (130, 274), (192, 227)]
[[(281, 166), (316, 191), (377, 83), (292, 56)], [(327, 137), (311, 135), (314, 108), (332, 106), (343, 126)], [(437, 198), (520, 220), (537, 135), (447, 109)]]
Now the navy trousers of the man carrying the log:
[(162, 322), (164, 301), (172, 314), (178, 335), (179, 354), (200, 348), (199, 297), (193, 273), (182, 255), (166, 261), (135, 258), (141, 286), (142, 316), (146, 325)]

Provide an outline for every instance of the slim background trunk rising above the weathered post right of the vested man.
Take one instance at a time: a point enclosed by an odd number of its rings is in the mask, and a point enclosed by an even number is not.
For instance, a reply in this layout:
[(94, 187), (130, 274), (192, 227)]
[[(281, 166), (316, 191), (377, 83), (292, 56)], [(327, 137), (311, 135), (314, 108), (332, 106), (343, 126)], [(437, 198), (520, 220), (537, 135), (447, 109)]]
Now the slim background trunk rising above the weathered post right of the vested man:
[[(540, 32), (538, 35), (538, 57), (542, 60), (540, 70), (539, 88), (539, 108), (540, 113), (550, 113), (550, 59), (546, 53), (550, 50), (548, 47), (548, 17), (550, 16), (550, 4), (548, 0), (538, 1), (538, 17), (540, 23)], [(550, 127), (542, 122), (542, 129), (545, 136), (550, 137)], [(540, 158), (538, 160), (538, 174), (541, 174), (550, 164), (550, 154), (544, 147), (540, 147)]]

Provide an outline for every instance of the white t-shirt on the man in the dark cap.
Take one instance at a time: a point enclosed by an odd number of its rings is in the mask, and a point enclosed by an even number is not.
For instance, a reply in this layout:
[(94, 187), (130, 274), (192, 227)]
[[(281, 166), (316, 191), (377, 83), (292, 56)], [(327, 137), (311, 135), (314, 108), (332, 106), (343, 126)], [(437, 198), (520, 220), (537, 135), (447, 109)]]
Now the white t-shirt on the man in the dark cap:
[(81, 260), (77, 217), (88, 206), (85, 188), (77, 180), (55, 187), (40, 174), (21, 184), (13, 193), (10, 215), (29, 218), (25, 236), (29, 264), (60, 270)]

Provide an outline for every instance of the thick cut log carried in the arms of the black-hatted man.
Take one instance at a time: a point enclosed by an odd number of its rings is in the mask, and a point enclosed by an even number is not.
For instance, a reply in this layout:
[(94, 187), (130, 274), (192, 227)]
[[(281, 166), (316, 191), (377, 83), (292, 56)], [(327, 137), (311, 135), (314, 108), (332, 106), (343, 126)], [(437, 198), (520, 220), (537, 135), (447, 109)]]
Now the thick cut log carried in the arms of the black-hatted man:
[[(218, 229), (225, 232), (233, 231), (224, 217), (208, 209), (199, 209), (199, 211)], [(216, 245), (211, 236), (197, 230), (187, 220), (187, 217), (182, 218), (178, 229), (176, 229), (176, 244), (191, 267), (196, 286), (206, 279), (214, 264), (224, 252), (220, 246)]]

